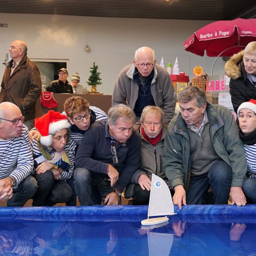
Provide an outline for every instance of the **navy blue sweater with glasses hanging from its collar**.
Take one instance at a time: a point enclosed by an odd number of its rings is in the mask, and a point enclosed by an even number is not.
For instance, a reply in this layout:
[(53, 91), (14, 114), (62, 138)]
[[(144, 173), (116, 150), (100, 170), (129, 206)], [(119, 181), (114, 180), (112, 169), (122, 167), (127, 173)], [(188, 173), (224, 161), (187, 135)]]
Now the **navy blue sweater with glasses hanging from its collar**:
[(101, 172), (108, 178), (108, 164), (111, 164), (119, 172), (116, 189), (123, 191), (139, 167), (141, 137), (137, 131), (133, 130), (126, 143), (118, 143), (116, 146), (118, 164), (113, 162), (110, 140), (108, 121), (98, 121), (92, 124), (85, 132), (82, 143), (78, 147), (75, 167)]

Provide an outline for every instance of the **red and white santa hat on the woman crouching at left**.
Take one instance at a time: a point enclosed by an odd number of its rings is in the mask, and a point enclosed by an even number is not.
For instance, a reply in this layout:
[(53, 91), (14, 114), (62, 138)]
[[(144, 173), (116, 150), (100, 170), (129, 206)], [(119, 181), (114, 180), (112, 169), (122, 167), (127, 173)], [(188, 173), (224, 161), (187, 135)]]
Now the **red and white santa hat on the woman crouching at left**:
[(49, 110), (47, 114), (35, 119), (35, 128), (40, 133), (40, 142), (49, 147), (52, 145), (52, 135), (64, 128), (71, 127), (68, 119), (60, 112)]

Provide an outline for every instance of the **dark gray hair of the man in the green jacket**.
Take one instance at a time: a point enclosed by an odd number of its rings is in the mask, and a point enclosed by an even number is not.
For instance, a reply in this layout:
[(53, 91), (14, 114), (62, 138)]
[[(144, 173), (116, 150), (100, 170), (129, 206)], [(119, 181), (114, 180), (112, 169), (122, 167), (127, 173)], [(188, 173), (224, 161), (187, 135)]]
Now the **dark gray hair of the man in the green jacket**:
[(183, 89), (178, 94), (178, 102), (187, 103), (189, 101), (192, 101), (193, 99), (197, 100), (198, 108), (203, 107), (204, 104), (207, 103), (205, 91), (202, 91), (202, 89), (192, 85)]

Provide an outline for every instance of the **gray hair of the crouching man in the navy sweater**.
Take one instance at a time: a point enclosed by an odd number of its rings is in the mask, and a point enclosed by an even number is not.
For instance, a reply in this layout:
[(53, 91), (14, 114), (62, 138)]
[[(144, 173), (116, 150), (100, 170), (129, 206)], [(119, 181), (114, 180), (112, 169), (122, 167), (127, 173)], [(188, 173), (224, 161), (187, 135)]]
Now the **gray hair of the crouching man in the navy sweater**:
[(135, 122), (134, 111), (124, 104), (114, 105), (108, 110), (108, 121), (111, 125), (117, 124), (119, 118), (122, 118), (124, 122)]

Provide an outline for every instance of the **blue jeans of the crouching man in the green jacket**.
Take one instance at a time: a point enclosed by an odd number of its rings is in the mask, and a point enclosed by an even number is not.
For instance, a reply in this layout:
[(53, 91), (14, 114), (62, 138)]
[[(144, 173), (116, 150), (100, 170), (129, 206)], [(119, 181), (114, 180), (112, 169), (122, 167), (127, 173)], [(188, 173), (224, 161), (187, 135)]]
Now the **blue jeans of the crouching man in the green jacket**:
[(202, 197), (210, 188), (215, 204), (228, 204), (232, 169), (224, 161), (215, 162), (207, 174), (191, 176), (186, 195), (187, 204), (201, 204)]

